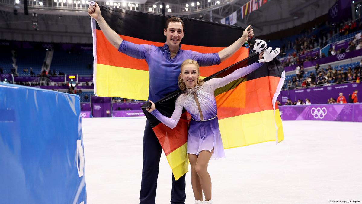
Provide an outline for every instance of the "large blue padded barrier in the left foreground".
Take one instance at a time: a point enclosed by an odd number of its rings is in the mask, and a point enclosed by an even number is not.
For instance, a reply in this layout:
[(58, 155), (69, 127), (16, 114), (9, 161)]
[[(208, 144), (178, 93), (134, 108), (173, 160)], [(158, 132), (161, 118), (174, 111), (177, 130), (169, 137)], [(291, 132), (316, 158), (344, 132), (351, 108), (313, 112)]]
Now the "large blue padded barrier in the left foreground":
[(79, 96), (0, 82), (0, 203), (87, 204)]

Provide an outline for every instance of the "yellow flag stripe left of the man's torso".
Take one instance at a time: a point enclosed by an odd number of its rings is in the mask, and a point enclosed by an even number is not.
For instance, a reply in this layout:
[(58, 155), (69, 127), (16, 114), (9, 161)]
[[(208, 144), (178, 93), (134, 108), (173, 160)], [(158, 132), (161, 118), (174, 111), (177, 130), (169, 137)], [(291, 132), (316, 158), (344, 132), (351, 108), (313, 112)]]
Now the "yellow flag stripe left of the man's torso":
[(97, 96), (148, 98), (148, 71), (97, 64)]

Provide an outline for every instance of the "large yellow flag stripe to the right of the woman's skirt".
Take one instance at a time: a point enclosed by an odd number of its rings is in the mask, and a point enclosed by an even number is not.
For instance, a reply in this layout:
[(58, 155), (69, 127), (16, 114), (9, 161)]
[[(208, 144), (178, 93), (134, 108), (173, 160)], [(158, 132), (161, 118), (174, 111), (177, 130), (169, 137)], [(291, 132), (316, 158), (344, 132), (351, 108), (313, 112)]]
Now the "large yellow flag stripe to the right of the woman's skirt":
[(275, 141), (277, 132), (278, 142), (283, 141), (282, 121), (278, 115), (279, 109), (275, 110), (275, 116), (273, 110), (266, 110), (220, 119), (224, 149)]

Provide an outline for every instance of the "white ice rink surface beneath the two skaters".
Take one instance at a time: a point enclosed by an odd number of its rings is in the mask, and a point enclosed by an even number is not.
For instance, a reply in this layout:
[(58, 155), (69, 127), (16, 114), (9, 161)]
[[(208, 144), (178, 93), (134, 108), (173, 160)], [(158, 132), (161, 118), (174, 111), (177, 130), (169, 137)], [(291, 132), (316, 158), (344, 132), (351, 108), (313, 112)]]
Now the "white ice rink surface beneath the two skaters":
[[(137, 204), (146, 118), (82, 119), (89, 204)], [(211, 160), (213, 204), (362, 202), (362, 123), (284, 121), (285, 140), (225, 150)], [(157, 204), (171, 200), (163, 154)], [(190, 172), (186, 204), (193, 204)]]

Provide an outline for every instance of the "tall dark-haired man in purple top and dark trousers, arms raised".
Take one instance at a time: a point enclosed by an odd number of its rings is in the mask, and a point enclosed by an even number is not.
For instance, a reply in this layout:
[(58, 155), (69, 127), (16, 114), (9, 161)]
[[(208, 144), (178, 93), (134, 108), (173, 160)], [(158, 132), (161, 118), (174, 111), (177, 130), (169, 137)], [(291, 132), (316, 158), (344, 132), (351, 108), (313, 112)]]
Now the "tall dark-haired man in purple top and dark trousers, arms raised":
[[(164, 35), (166, 43), (164, 46), (137, 45), (123, 40), (115, 33), (101, 16), (98, 4), (89, 5), (89, 15), (97, 21), (99, 27), (107, 40), (128, 56), (145, 59), (149, 70), (148, 99), (158, 101), (168, 93), (178, 90), (177, 77), (180, 74), (180, 67), (184, 60), (193, 59), (200, 66), (220, 64), (220, 62), (231, 57), (241, 48), (248, 37), (253, 37), (253, 29), (248, 31), (250, 25), (244, 30), (243, 35), (232, 45), (218, 53), (201, 54), (191, 50), (182, 50), (180, 42), (184, 37), (184, 23), (177, 17), (171, 17), (166, 21)], [(140, 22), (141, 23), (141, 22)], [(146, 31), (147, 32), (147, 31)], [(143, 135), (143, 168), (140, 191), (140, 204), (154, 204), (156, 198), (157, 177), (159, 172), (160, 156), (162, 147), (152, 130), (150, 123), (146, 122)], [(177, 181), (172, 175), (172, 204), (185, 203), (185, 175)]]

